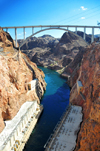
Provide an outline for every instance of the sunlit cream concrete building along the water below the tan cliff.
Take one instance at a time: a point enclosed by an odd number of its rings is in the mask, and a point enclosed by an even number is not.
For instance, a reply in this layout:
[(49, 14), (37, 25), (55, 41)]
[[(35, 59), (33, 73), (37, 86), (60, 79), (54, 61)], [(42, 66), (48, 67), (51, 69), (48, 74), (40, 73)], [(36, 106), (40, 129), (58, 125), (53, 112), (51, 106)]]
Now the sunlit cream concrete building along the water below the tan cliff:
[(12, 120), (5, 121), (0, 133), (0, 151), (22, 151), (42, 110), (37, 101), (25, 102)]

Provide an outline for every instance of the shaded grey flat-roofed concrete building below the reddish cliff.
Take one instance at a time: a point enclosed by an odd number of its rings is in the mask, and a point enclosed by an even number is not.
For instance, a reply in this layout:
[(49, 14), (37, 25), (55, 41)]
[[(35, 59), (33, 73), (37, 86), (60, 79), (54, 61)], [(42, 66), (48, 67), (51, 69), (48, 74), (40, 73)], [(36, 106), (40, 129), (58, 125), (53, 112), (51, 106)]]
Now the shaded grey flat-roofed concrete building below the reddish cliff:
[(70, 105), (45, 144), (45, 151), (73, 151), (81, 122), (82, 108)]

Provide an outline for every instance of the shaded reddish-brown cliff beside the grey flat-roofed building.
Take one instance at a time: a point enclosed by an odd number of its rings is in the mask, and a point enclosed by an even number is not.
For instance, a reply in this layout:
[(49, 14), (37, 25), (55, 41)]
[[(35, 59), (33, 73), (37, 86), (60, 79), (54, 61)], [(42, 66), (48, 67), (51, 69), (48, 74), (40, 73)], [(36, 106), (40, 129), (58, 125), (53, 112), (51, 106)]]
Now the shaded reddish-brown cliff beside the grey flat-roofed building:
[[(78, 72), (77, 72), (78, 71)], [(83, 107), (83, 122), (75, 151), (100, 150), (100, 43), (88, 46), (77, 74), (71, 77), (70, 102)], [(77, 75), (77, 76), (76, 76)], [(76, 81), (82, 82), (82, 95), (77, 92)], [(84, 97), (83, 97), (84, 96)], [(84, 99), (83, 99), (84, 98)]]

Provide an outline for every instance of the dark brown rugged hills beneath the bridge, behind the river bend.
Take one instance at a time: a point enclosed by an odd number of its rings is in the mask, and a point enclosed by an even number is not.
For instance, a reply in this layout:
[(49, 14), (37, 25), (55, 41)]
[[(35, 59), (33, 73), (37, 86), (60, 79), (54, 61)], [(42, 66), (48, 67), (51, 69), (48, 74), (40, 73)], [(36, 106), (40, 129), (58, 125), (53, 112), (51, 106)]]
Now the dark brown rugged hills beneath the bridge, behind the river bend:
[[(67, 66), (73, 62), (75, 56), (79, 53), (77, 58), (78, 63), (81, 60), (87, 43), (78, 35), (72, 32), (66, 32), (63, 34), (60, 41), (55, 40), (53, 37), (43, 36), (36, 40), (29, 40), (29, 42), (23, 46), (22, 49), (28, 57), (37, 65), (46, 66), (50, 69), (56, 70), (62, 73), (62, 76), (68, 77), (69, 72), (66, 69)], [(40, 42), (42, 41), (42, 42)], [(39, 43), (40, 42), (40, 43)], [(29, 44), (32, 43), (32, 47)], [(36, 44), (37, 43), (37, 44)], [(25, 48), (24, 48), (25, 47)], [(31, 48), (31, 50), (25, 50)], [(72, 63), (73, 64), (73, 63)], [(75, 65), (76, 66), (76, 65)], [(65, 69), (65, 70), (64, 70)]]

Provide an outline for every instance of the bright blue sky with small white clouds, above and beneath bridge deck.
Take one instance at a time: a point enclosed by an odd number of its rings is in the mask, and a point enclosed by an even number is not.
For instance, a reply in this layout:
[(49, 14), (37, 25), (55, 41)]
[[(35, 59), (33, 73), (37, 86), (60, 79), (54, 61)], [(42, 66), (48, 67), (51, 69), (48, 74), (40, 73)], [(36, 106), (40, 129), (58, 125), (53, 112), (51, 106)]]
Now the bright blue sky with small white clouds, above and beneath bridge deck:
[[(100, 0), (0, 0), (0, 26), (34, 26), (34, 25), (90, 25), (100, 22)], [(40, 30), (35, 28), (34, 32)], [(69, 28), (75, 31), (75, 28)], [(83, 31), (84, 29), (78, 28)], [(14, 29), (8, 32), (15, 38)], [(92, 29), (86, 29), (91, 34)], [(47, 30), (44, 34), (60, 38), (64, 31)], [(100, 34), (100, 29), (95, 29)], [(32, 34), (32, 29), (25, 29), (25, 36)], [(23, 29), (17, 29), (17, 38), (23, 38)]]

